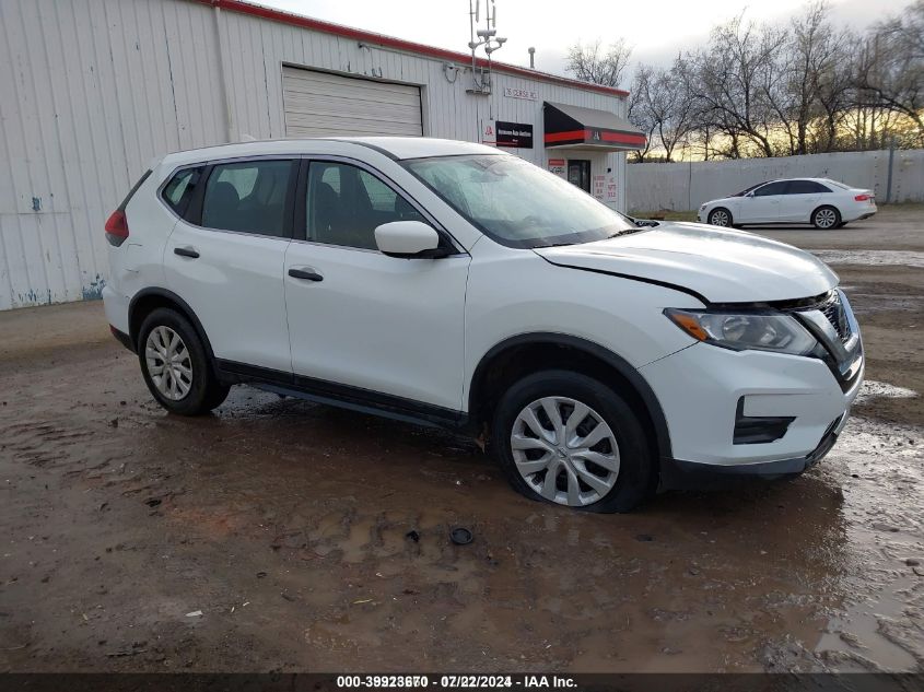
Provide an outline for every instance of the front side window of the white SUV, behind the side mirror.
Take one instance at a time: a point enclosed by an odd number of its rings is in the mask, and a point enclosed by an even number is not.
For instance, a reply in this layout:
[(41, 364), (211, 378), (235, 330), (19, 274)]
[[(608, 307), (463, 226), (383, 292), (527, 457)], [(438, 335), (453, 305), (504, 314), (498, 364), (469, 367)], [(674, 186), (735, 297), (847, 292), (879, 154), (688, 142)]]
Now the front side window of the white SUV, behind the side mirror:
[(425, 221), (390, 186), (356, 166), (318, 161), (308, 168), (307, 239), (376, 249), (375, 228), (391, 221)]

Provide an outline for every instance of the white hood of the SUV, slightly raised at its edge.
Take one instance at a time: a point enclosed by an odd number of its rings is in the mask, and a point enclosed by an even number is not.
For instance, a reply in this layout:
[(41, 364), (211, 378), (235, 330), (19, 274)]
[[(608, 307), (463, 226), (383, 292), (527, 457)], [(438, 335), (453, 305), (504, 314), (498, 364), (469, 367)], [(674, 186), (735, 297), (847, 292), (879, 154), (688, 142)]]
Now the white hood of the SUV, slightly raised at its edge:
[(678, 286), (710, 303), (765, 303), (820, 295), (838, 275), (815, 256), (744, 231), (663, 223), (582, 245), (539, 247), (560, 267)]

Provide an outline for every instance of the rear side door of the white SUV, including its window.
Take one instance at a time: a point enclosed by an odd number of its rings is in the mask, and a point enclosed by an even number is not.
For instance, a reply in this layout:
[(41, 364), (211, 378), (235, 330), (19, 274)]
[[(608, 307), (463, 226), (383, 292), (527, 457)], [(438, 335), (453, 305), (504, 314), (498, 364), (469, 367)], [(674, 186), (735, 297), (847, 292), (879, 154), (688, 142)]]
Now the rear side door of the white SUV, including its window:
[(230, 370), (258, 366), (291, 376), (282, 273), (297, 166), (294, 157), (206, 166), (200, 190), (167, 241), (167, 288), (192, 308)]

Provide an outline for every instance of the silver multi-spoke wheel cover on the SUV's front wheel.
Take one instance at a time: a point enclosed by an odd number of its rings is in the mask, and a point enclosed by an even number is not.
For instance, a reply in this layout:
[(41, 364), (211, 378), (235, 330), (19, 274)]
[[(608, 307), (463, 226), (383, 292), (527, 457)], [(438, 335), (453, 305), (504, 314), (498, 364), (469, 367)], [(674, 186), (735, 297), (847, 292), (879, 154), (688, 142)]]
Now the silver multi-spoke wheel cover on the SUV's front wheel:
[(599, 413), (569, 397), (543, 397), (514, 420), (513, 460), (546, 500), (582, 507), (605, 497), (619, 477), (619, 446)]

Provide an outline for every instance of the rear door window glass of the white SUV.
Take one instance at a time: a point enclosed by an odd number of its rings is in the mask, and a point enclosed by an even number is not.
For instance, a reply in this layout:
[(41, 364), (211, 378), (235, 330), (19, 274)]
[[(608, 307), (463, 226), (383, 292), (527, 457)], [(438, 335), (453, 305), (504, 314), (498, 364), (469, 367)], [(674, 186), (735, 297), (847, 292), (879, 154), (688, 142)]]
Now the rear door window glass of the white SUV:
[(246, 161), (212, 168), (202, 198), (202, 225), (284, 237), (293, 161)]

